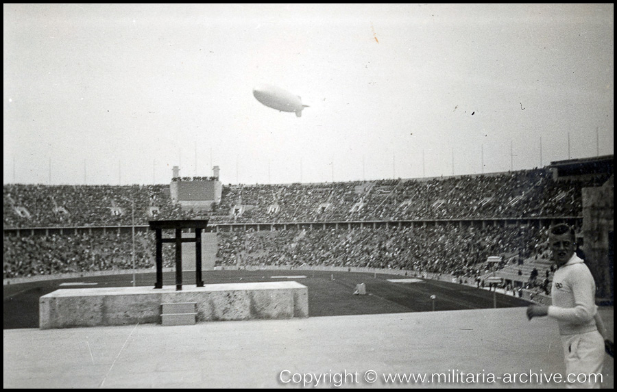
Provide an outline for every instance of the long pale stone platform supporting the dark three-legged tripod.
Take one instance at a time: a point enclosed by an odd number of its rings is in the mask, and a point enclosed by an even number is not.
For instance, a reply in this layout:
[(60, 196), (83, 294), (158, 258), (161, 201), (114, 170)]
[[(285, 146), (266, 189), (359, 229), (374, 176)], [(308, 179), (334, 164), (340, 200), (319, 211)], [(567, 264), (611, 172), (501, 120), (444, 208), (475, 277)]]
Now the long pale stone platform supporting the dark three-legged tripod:
[(309, 317), (308, 288), (297, 282), (184, 285), (162, 289), (60, 289), (39, 300), (40, 329), (160, 323), (161, 304), (195, 302), (197, 322)]

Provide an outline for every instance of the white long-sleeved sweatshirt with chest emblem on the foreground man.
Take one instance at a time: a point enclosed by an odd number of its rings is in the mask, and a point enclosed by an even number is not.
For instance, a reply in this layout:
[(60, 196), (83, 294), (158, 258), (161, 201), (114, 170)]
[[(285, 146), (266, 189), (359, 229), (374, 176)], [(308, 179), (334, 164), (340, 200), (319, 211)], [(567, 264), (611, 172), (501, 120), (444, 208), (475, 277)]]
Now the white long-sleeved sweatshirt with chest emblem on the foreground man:
[(577, 335), (596, 330), (596, 283), (583, 260), (572, 254), (553, 276), (553, 305), (548, 315), (557, 319), (561, 335)]

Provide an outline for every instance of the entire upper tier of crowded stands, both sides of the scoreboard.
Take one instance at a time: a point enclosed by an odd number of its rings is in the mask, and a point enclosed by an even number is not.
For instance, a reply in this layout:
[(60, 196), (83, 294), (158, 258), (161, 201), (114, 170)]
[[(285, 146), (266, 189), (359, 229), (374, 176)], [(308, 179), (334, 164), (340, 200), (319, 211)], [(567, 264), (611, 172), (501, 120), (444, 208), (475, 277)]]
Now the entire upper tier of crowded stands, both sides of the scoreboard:
[[(4, 228), (581, 217), (583, 187), (548, 168), (433, 179), (223, 185), (211, 211), (180, 207), (169, 185), (4, 185)], [(133, 213), (134, 212), (134, 213)]]

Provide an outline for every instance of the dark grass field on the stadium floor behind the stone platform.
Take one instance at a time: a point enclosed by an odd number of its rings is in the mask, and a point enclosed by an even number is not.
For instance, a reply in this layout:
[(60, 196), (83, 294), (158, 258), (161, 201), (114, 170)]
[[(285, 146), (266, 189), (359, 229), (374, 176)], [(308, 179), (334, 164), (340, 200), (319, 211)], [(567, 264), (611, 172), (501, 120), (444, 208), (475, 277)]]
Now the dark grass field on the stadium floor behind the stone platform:
[[(285, 278), (291, 276), (291, 278)], [(299, 278), (298, 276), (305, 276)], [(494, 306), (494, 293), (475, 287), (439, 280), (422, 279), (416, 283), (391, 283), (400, 275), (361, 272), (324, 272), (313, 270), (225, 270), (204, 272), (204, 283), (271, 282), (295, 280), (309, 287), (310, 317), (335, 315), (369, 315), (489, 309)], [(183, 282), (194, 284), (195, 273), (184, 272)], [(136, 275), (136, 285), (154, 287), (154, 274)], [(164, 285), (175, 285), (175, 274), (163, 276)], [(367, 295), (354, 296), (356, 285), (365, 283)], [(62, 285), (62, 286), (61, 286)], [(94, 276), (64, 280), (47, 280), (4, 286), (3, 329), (38, 328), (38, 298), (57, 289), (71, 287), (127, 287), (132, 274)], [(496, 294), (499, 308), (526, 306), (527, 301)]]

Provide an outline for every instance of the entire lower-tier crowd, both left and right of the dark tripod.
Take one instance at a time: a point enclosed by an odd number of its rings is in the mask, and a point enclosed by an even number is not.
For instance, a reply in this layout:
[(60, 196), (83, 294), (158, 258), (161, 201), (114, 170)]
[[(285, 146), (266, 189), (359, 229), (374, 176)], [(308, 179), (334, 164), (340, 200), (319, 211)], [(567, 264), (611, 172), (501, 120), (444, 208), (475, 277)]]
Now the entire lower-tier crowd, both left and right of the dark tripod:
[[(374, 267), (473, 277), (490, 255), (527, 257), (542, 249), (533, 226), (421, 226), (219, 232), (217, 265)], [(36, 235), (4, 238), (4, 278), (130, 270), (130, 234)], [(540, 246), (540, 248), (538, 248)], [(163, 247), (165, 267), (174, 250)], [(154, 233), (137, 232), (136, 268), (154, 267)]]

